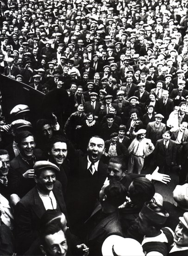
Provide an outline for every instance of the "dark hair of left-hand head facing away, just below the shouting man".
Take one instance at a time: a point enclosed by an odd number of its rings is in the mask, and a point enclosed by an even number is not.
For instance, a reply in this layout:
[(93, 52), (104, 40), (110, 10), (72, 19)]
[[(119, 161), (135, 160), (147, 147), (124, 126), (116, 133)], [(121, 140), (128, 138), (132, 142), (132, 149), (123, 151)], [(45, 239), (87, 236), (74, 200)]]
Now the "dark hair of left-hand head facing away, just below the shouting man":
[(107, 202), (116, 207), (124, 203), (127, 196), (125, 186), (119, 181), (110, 181), (104, 193), (107, 196)]

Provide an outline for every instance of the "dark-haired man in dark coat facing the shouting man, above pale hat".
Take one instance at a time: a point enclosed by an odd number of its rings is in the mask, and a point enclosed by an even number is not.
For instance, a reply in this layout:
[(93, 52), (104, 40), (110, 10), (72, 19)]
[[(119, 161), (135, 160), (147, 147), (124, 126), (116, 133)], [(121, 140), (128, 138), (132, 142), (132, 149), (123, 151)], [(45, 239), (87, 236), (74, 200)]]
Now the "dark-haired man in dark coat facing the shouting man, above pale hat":
[(102, 243), (108, 236), (123, 235), (118, 206), (124, 202), (125, 187), (121, 182), (107, 182), (100, 190), (99, 197), (100, 204), (85, 222), (87, 230), (85, 243), (89, 247), (89, 254), (93, 256), (102, 255)]

